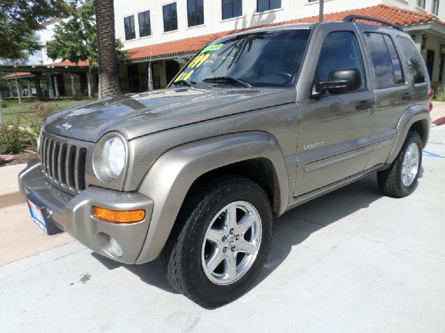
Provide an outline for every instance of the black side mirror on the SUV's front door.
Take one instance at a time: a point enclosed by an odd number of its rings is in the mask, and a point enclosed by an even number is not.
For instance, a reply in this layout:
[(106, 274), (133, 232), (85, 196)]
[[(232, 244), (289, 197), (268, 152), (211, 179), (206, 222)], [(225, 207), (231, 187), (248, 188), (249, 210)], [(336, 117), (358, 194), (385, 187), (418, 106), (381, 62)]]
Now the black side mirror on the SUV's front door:
[(312, 97), (318, 98), (330, 92), (331, 94), (345, 94), (359, 89), (362, 77), (357, 68), (334, 69), (327, 81), (319, 81), (312, 88)]

